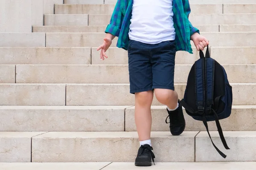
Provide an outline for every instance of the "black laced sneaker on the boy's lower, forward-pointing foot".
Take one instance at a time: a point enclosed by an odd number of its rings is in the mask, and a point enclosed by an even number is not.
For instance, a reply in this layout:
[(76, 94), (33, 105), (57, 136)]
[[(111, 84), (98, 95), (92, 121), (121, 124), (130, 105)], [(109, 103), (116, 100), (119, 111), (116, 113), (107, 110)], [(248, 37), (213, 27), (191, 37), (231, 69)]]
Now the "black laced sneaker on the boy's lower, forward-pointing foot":
[(151, 166), (151, 158), (154, 162), (153, 148), (149, 144), (141, 145), (138, 150), (137, 158), (135, 159), (135, 166)]

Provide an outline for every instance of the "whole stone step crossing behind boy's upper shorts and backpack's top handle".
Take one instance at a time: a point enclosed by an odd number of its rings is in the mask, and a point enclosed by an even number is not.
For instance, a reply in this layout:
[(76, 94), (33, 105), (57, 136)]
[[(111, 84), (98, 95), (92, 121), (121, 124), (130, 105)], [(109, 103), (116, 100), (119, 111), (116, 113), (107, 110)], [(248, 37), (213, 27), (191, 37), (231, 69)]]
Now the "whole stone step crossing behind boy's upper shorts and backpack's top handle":
[[(256, 63), (256, 47), (210, 47), (210, 50), (211, 57), (221, 64)], [(178, 51), (175, 64), (193, 64), (199, 59), (199, 52), (193, 48), (193, 53)], [(104, 61), (96, 48), (90, 47), (0, 47), (0, 54), (2, 64), (128, 64), (127, 51), (116, 47), (108, 49), (108, 59)]]

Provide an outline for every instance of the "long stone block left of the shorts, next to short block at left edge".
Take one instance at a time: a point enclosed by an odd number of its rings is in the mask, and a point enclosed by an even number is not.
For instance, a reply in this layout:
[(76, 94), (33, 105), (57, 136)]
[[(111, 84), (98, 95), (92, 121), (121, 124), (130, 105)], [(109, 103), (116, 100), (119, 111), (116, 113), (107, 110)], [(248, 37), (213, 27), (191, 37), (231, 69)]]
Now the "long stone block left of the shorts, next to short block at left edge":
[(129, 83), (128, 65), (17, 65), (17, 83)]

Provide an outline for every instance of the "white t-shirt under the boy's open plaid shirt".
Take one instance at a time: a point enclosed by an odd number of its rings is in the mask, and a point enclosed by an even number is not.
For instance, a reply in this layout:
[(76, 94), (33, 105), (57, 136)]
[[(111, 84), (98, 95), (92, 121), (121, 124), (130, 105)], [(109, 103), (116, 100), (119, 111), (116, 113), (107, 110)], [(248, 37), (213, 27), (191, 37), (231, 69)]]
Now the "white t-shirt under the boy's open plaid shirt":
[(156, 44), (175, 40), (172, 0), (134, 0), (129, 38)]

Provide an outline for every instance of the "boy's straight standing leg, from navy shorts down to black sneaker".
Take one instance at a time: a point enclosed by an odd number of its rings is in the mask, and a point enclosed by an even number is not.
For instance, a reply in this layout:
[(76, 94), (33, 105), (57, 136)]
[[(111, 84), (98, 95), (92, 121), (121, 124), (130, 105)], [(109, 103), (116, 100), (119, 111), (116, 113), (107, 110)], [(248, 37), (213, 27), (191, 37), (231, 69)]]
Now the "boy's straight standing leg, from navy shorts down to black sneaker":
[(150, 140), (152, 123), (150, 108), (153, 100), (152, 65), (148, 49), (148, 44), (129, 41), (130, 93), (135, 94), (135, 123), (140, 139), (140, 148), (135, 159), (136, 166), (151, 166), (151, 159), (154, 161)]

